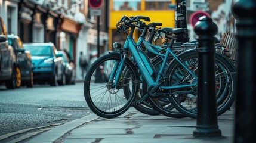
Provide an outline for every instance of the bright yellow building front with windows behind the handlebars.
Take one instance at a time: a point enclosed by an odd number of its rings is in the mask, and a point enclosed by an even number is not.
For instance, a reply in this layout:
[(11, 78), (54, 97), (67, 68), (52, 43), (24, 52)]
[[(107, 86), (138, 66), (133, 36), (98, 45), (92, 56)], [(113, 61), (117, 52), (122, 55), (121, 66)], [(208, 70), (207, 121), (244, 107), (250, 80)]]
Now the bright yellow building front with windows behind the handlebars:
[[(123, 15), (146, 16), (150, 17), (149, 23), (161, 22), (161, 27), (175, 27), (175, 10), (169, 10), (169, 4), (175, 4), (175, 0), (110, 0), (109, 50), (113, 42), (125, 41), (125, 35), (116, 32), (116, 23)], [(138, 32), (134, 39), (138, 39)]]

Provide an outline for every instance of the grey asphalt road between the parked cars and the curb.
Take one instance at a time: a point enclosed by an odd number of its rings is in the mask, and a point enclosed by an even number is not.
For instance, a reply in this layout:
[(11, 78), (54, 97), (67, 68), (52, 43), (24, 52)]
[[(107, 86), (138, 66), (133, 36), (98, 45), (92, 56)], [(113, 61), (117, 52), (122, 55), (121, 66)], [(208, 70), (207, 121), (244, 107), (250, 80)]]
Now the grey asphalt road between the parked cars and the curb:
[(30, 128), (30, 132), (35, 132), (91, 114), (83, 85), (83, 82), (57, 87), (34, 85), (15, 90), (0, 85), (0, 142), (28, 133), (20, 130)]

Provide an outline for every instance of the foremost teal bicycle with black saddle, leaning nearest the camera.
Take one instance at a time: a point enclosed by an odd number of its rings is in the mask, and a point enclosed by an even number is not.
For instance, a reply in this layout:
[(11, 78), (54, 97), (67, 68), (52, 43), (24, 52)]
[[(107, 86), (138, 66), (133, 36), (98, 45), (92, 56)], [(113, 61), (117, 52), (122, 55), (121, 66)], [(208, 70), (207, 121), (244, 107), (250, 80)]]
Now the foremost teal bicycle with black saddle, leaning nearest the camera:
[[(196, 67), (196, 62), (183, 61), (182, 58), (177, 56), (171, 49), (174, 43), (174, 39), (172, 39), (169, 46), (164, 49), (165, 53), (155, 53), (162, 58), (159, 70), (156, 72), (150, 59), (143, 51), (138, 49), (132, 38), (135, 27), (138, 27), (140, 20), (150, 21), (149, 17), (143, 16), (133, 17), (132, 19), (122, 17), (118, 23), (118, 30), (130, 30), (124, 47), (120, 44), (113, 45), (118, 49), (118, 52), (111, 52), (98, 58), (88, 70), (84, 80), (84, 96), (90, 109), (98, 116), (105, 118), (120, 116), (131, 107), (131, 104), (138, 105), (147, 99), (168, 98), (168, 101), (175, 104), (176, 108), (179, 104), (183, 105), (181, 103), (189, 98), (188, 95), (196, 97), (198, 78), (196, 69), (191, 68)], [(184, 29), (172, 30), (172, 34), (176, 37), (184, 35), (184, 32)], [(129, 59), (129, 52), (134, 58), (134, 62)], [(191, 53), (195, 55), (195, 51)], [(170, 55), (173, 60), (166, 67)], [(180, 66), (173, 67), (173, 65)], [(139, 95), (142, 82), (138, 70), (146, 82), (147, 94), (139, 101), (135, 101)], [(233, 90), (233, 86), (227, 88)], [(183, 95), (183, 98), (180, 98), (179, 94)], [(186, 98), (184, 95), (186, 95)], [(232, 95), (229, 95), (229, 97), (232, 97)], [(218, 104), (225, 103), (228, 106), (224, 98), (220, 99), (222, 100)], [(229, 101), (232, 102), (232, 100)], [(187, 110), (196, 111), (196, 107)]]

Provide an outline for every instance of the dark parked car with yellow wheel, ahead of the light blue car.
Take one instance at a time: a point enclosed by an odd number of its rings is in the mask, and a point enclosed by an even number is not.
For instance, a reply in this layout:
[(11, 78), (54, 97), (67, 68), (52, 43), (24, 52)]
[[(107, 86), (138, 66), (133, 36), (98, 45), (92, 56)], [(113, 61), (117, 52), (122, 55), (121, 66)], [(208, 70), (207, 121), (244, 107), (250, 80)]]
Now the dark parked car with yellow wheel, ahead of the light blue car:
[(16, 88), (23, 85), (33, 87), (33, 64), (30, 52), (23, 48), (21, 39), (16, 35), (7, 35), (8, 44), (13, 47), (16, 57)]

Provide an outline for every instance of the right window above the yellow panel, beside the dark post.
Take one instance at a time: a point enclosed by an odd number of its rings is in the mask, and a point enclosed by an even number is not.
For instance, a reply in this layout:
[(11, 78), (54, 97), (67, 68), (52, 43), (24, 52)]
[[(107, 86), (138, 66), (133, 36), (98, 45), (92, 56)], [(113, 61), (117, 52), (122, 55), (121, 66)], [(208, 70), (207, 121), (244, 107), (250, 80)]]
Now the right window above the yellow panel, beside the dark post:
[(170, 0), (145, 0), (146, 10), (169, 10)]

